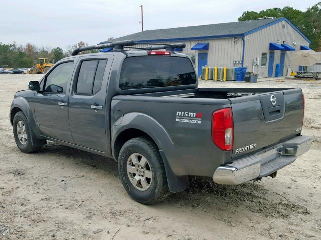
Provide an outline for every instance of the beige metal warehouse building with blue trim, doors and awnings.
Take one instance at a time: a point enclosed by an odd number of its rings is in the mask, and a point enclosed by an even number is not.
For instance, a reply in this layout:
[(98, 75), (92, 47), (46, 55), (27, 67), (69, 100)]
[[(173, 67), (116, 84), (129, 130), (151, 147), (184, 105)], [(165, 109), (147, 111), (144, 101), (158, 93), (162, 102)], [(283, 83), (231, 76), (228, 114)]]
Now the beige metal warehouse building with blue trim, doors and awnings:
[[(288, 68), (301, 70), (291, 64), (292, 52), (310, 49), (310, 40), (287, 18), (264, 18), (202, 26), (188, 26), (160, 30), (146, 30), (113, 41), (133, 39), (142, 43), (186, 43), (176, 49), (188, 54), (195, 63), (198, 75), (202, 67), (247, 67), (259, 77), (287, 75)], [(144, 47), (146, 45), (137, 45)], [(106, 49), (108, 51), (108, 49)]]

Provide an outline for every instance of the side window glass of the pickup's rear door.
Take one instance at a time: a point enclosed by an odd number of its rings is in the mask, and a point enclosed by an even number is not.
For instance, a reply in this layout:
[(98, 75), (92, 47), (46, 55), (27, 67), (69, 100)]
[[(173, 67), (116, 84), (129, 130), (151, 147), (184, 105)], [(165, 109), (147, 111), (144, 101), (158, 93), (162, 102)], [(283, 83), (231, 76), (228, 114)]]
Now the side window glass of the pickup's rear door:
[(83, 61), (80, 66), (76, 93), (92, 95), (97, 93), (102, 84), (107, 60)]

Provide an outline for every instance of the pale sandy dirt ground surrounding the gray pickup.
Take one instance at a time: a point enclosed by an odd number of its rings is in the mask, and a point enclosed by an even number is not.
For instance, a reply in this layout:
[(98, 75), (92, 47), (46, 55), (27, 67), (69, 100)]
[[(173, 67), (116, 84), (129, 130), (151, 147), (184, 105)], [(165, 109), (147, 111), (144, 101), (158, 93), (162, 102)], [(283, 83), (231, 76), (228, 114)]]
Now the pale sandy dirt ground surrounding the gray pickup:
[(321, 239), (321, 81), (201, 87), (301, 87), (303, 134), (311, 150), (276, 178), (190, 188), (145, 206), (125, 192), (117, 163), (56, 143), (34, 154), (16, 147), (9, 123), (14, 93), (41, 75), (0, 75), (0, 239)]

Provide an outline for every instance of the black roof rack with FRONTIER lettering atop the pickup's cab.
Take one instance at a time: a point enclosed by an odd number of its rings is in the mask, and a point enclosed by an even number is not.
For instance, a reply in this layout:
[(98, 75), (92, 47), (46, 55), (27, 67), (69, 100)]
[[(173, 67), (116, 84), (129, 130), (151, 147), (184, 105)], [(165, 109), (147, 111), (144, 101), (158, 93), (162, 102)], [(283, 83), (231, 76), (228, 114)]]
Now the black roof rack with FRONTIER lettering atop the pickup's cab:
[[(130, 47), (134, 45), (142, 45), (142, 44), (148, 44), (148, 45), (155, 45), (155, 46), (148, 46), (144, 48), (140, 47)], [(186, 44), (185, 43), (177, 43), (177, 44), (160, 44), (160, 43), (145, 43), (145, 42), (139, 42), (136, 43), (134, 40), (126, 40), (126, 41), (114, 41), (110, 43), (104, 43), (101, 42), (97, 45), (92, 45), (92, 46), (82, 46), (78, 47), (73, 52), (71, 53), (72, 56), (78, 55), (79, 52), (82, 51), (88, 51), (88, 50), (94, 50), (94, 49), (103, 49), (107, 47), (112, 47), (113, 51), (123, 51), (124, 48), (130, 48), (130, 49), (138, 49), (138, 50), (161, 50), (165, 49), (166, 51), (171, 51), (173, 52), (175, 48), (185, 48)]]

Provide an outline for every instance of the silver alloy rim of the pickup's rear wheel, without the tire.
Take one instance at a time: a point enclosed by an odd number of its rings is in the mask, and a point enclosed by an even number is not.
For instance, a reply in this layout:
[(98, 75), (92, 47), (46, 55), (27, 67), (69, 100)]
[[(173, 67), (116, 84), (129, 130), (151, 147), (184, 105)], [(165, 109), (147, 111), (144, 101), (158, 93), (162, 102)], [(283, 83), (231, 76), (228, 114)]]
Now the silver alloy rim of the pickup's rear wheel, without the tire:
[(146, 157), (133, 153), (127, 161), (127, 174), (131, 184), (140, 191), (146, 191), (152, 182), (152, 171)]

